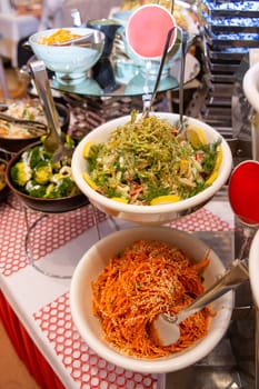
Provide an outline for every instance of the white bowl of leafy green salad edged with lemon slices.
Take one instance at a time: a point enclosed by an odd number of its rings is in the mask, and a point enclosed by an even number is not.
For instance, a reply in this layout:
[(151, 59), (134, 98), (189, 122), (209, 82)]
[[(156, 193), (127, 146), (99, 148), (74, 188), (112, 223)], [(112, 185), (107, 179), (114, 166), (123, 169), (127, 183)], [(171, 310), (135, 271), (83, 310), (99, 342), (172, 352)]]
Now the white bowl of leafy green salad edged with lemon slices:
[(226, 183), (232, 154), (212, 127), (179, 114), (132, 111), (96, 128), (77, 146), (72, 173), (101, 211), (159, 226), (191, 213)]

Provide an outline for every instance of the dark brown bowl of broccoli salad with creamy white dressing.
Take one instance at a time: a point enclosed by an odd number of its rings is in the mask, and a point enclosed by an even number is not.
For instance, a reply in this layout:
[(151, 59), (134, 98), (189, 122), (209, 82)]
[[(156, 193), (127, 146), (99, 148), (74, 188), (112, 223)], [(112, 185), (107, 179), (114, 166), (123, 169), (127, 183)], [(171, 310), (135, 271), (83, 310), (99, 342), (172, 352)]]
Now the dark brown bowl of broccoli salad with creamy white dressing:
[(27, 207), (46, 213), (68, 212), (89, 203), (71, 173), (71, 160), (52, 161), (41, 142), (16, 153), (8, 162), (6, 181)]

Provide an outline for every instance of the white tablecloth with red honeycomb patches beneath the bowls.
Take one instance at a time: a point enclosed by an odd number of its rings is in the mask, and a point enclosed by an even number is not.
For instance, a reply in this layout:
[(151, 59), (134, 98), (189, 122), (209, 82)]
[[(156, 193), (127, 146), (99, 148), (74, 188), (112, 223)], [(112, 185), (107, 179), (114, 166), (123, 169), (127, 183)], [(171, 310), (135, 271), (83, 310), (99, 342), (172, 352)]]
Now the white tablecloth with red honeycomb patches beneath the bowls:
[[(12, 202), (13, 203), (13, 202)], [(159, 375), (143, 375), (121, 369), (97, 356), (73, 326), (69, 307), (70, 279), (48, 277), (36, 270), (24, 251), (28, 233), (24, 212), (0, 206), (0, 286), (13, 310), (46, 359), (68, 389), (162, 389)], [(106, 236), (123, 221), (111, 220), (97, 211), (99, 235)], [(76, 211), (42, 217), (29, 212), (34, 263), (50, 261), (56, 271), (60, 258), (74, 268), (98, 239), (91, 206)], [(233, 216), (227, 201), (211, 201), (197, 212), (170, 223), (186, 231), (232, 231)], [(67, 262), (64, 261), (64, 265)], [(70, 265), (71, 265), (70, 263)]]

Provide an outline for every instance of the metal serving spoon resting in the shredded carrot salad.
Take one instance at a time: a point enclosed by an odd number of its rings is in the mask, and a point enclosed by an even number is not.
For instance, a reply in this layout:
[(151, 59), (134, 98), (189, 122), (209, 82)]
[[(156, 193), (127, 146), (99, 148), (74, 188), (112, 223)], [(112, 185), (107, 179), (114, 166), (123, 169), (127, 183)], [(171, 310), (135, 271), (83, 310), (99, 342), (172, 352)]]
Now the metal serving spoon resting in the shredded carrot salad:
[(178, 315), (170, 316), (160, 313), (153, 321), (153, 328), (162, 346), (175, 343), (180, 338), (179, 325), (189, 316), (200, 311), (210, 302), (217, 300), (222, 295), (236, 289), (239, 285), (248, 280), (249, 273), (245, 260), (235, 260), (233, 266), (217, 280), (209, 289), (200, 295), (191, 305), (182, 309)]

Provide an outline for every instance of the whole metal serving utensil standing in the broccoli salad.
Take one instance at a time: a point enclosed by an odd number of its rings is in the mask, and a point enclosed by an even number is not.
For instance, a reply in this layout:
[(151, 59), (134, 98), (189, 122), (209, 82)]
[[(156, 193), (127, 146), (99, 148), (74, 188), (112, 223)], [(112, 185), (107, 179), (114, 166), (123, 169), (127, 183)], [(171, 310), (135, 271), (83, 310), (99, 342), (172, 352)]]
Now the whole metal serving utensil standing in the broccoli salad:
[(72, 149), (67, 148), (61, 139), (61, 128), (59, 123), (58, 112), (54, 107), (53, 97), (51, 94), (50, 82), (43, 61), (32, 61), (29, 63), (32, 78), (34, 79), (36, 88), (39, 98), (43, 106), (44, 114), (48, 121), (50, 133), (43, 141), (44, 149), (53, 152), (53, 162), (61, 159), (67, 159), (72, 156)]

